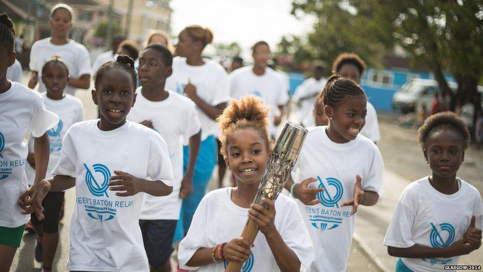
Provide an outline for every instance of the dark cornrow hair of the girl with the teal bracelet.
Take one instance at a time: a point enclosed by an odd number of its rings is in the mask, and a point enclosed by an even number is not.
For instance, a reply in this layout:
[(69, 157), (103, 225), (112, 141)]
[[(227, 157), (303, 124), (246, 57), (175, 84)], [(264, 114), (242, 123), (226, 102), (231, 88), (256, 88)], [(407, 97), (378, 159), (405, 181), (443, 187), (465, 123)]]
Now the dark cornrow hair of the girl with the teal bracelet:
[(322, 99), (324, 105), (332, 108), (337, 108), (347, 97), (366, 96), (364, 90), (354, 81), (338, 74), (329, 77), (322, 93), (319, 100)]

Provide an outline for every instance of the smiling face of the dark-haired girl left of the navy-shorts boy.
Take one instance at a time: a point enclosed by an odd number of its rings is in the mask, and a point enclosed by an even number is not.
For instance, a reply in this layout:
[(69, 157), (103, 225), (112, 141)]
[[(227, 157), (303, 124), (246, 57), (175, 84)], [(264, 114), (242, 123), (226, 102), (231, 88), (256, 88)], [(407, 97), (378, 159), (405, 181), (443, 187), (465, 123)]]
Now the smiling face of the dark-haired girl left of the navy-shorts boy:
[(112, 130), (126, 122), (131, 107), (136, 102), (134, 83), (128, 71), (110, 69), (102, 74), (102, 78), (92, 90), (92, 99), (99, 106), (101, 130)]

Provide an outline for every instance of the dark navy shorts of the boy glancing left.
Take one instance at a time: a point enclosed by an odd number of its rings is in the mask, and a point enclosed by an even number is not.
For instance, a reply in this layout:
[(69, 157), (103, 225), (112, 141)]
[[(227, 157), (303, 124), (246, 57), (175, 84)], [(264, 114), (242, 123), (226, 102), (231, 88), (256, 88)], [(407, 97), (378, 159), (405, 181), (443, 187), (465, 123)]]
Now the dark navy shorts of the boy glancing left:
[(173, 252), (174, 231), (178, 220), (139, 220), (147, 260), (154, 267), (169, 262)]

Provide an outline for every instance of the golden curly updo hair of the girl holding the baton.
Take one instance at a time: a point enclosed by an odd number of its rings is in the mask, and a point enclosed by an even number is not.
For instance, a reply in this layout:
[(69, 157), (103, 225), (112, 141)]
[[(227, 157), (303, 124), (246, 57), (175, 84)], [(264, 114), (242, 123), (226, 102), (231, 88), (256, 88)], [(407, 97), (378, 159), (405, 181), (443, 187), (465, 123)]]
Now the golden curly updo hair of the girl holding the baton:
[(227, 142), (237, 129), (252, 128), (265, 140), (267, 151), (271, 150), (272, 140), (268, 134), (268, 114), (270, 107), (263, 100), (253, 95), (246, 95), (239, 100), (232, 99), (230, 106), (216, 118), (221, 128), (220, 153), (227, 157)]

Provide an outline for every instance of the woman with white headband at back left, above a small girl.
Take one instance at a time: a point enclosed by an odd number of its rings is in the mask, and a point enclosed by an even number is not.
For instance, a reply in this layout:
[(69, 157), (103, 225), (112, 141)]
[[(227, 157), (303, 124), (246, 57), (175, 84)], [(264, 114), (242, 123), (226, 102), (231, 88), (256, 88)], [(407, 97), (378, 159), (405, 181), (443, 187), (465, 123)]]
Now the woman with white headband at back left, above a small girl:
[(39, 82), (42, 78), (42, 66), (53, 55), (59, 55), (69, 66), (70, 78), (64, 93), (75, 96), (76, 90), (89, 89), (91, 86), (91, 60), (86, 47), (69, 39), (72, 28), (73, 11), (69, 5), (56, 4), (50, 12), (50, 36), (35, 42), (30, 52), (29, 88), (39, 83), (39, 92), (46, 91), (45, 85)]

